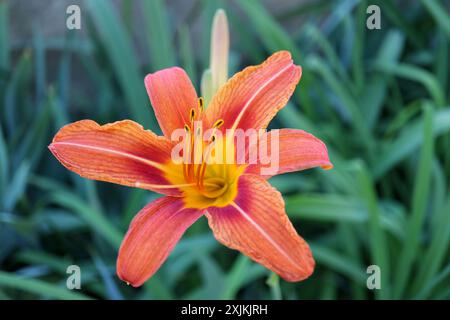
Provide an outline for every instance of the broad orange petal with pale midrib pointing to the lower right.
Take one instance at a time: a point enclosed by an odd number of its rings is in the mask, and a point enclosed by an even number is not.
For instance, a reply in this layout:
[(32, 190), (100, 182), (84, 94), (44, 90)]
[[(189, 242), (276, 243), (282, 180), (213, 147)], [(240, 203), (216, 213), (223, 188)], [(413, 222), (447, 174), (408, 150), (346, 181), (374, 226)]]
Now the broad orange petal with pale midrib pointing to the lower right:
[(243, 175), (234, 203), (209, 208), (206, 216), (217, 240), (278, 273), (287, 281), (311, 275), (314, 259), (297, 234), (280, 193), (261, 177)]

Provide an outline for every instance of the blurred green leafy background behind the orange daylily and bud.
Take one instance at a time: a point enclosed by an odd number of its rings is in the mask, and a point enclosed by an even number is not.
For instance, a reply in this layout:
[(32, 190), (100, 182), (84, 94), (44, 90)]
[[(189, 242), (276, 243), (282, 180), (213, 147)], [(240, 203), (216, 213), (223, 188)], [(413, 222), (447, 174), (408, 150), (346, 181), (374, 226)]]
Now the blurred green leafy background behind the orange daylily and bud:
[[(81, 8), (69, 31), (65, 10)], [(381, 9), (381, 29), (366, 9)], [(289, 50), (303, 67), (272, 127), (307, 130), (335, 165), (271, 179), (317, 268), (286, 283), (221, 246), (206, 219), (143, 287), (115, 275), (133, 216), (158, 197), (82, 179), (47, 149), (69, 122), (131, 118), (160, 132), (145, 74), (199, 88), (218, 8), (230, 74)], [(0, 0), (1, 299), (449, 299), (449, 2)], [(82, 289), (66, 288), (81, 267)], [(381, 268), (381, 290), (366, 269)]]

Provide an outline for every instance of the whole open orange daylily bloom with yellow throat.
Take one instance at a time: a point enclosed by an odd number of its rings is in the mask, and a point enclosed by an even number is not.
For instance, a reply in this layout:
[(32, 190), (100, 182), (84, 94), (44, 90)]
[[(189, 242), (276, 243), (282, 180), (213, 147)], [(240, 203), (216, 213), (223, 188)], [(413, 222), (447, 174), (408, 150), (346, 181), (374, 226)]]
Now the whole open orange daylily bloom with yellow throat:
[[(311, 275), (308, 244), (289, 221), (281, 194), (261, 175), (262, 164), (174, 163), (174, 130), (265, 129), (301, 77), (287, 51), (235, 74), (204, 108), (187, 74), (178, 67), (149, 74), (145, 86), (164, 136), (123, 120), (103, 126), (82, 120), (63, 127), (49, 148), (69, 170), (89, 179), (162, 193), (130, 224), (117, 274), (140, 286), (165, 261), (185, 230), (206, 216), (218, 241), (287, 281)], [(264, 133), (270, 140), (271, 132)], [(255, 147), (255, 146), (253, 146)], [(313, 167), (329, 169), (325, 144), (301, 130), (279, 130), (277, 174)]]

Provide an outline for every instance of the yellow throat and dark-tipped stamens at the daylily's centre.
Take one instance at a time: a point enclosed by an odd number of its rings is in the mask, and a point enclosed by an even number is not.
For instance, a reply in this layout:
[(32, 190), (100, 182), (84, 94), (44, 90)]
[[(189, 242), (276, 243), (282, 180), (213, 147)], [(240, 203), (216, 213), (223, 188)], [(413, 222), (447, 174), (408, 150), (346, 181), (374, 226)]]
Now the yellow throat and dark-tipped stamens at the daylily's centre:
[(204, 137), (203, 116), (203, 99), (199, 98), (197, 110), (190, 109), (189, 122), (184, 125), (182, 164), (171, 165), (178, 167), (172, 172), (181, 171), (182, 174), (167, 176), (171, 183), (183, 185), (180, 189), (186, 206), (198, 209), (228, 205), (237, 194), (237, 178), (243, 170), (235, 163), (225, 161), (227, 153), (234, 154), (234, 146), (228, 146), (217, 132), (224, 124), (223, 119), (215, 121)]

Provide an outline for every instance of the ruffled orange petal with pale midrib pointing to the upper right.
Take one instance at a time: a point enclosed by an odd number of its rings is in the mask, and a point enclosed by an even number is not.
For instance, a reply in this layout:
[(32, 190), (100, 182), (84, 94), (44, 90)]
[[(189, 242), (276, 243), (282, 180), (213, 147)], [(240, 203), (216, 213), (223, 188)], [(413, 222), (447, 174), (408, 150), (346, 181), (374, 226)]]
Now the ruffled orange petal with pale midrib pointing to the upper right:
[(209, 125), (223, 119), (222, 131), (266, 128), (288, 102), (301, 73), (288, 51), (279, 51), (264, 63), (236, 73), (212, 98), (206, 110)]

